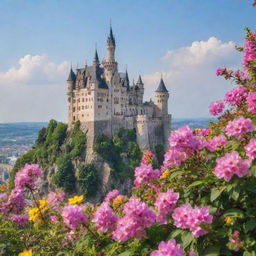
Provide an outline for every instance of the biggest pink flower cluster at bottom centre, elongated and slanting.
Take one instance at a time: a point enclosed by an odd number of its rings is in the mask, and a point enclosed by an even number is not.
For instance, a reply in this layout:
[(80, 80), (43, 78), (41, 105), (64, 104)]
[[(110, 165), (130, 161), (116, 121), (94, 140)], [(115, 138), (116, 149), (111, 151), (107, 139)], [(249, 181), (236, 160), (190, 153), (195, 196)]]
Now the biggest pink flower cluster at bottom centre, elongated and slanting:
[(155, 222), (156, 215), (146, 203), (132, 196), (124, 206), (124, 216), (117, 221), (112, 237), (117, 241), (126, 241), (132, 236), (141, 238), (145, 228)]

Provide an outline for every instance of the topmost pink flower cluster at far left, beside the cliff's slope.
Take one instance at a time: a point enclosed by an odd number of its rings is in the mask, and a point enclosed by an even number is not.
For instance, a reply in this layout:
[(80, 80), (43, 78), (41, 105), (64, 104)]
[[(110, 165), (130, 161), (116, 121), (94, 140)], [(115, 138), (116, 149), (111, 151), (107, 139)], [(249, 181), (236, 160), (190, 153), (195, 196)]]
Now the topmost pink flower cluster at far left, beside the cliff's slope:
[(38, 179), (43, 174), (43, 171), (39, 168), (37, 164), (26, 164), (23, 169), (20, 169), (15, 176), (15, 188), (25, 189), (31, 188), (35, 189)]

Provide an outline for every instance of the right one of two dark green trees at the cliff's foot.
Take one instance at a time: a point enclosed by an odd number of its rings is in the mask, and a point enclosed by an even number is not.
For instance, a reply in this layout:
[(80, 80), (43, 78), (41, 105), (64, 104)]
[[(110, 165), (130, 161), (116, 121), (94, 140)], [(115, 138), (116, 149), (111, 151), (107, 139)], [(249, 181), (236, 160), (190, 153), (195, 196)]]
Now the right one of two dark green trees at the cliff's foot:
[(78, 184), (83, 194), (90, 196), (97, 190), (99, 176), (93, 164), (82, 164), (79, 167)]

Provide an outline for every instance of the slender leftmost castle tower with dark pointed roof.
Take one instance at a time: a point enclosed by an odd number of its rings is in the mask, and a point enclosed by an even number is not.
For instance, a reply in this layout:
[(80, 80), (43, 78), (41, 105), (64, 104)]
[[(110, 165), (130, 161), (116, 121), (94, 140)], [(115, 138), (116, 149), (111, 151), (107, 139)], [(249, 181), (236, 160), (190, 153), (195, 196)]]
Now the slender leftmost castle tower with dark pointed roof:
[(70, 68), (69, 76), (67, 79), (67, 95), (68, 95), (68, 123), (71, 124), (73, 121), (75, 121), (75, 117), (73, 117), (73, 90), (76, 86), (76, 75), (72, 69)]

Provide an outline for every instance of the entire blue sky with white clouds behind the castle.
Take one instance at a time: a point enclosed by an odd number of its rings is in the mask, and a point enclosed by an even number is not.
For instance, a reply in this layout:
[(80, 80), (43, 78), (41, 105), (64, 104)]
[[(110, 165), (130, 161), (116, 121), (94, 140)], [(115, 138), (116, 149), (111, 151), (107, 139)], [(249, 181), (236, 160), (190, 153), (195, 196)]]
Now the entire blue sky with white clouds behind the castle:
[(161, 74), (174, 118), (209, 117), (210, 102), (234, 84), (216, 77), (239, 68), (244, 28), (256, 30), (252, 0), (1, 0), (0, 122), (67, 120), (70, 65), (106, 56), (110, 19), (119, 71), (142, 75), (145, 100)]

